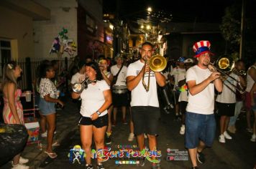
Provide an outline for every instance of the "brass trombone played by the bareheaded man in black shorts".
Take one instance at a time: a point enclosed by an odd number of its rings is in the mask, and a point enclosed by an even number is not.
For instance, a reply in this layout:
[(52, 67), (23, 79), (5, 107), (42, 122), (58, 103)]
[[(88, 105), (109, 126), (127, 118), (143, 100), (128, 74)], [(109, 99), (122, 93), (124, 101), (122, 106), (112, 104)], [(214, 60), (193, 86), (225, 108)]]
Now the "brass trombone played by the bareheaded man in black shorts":
[[(144, 59), (144, 61), (145, 61), (145, 66), (146, 66), (146, 64), (149, 65), (150, 72), (151, 72), (151, 70), (153, 72), (162, 72), (163, 69), (165, 69), (165, 67), (167, 65), (167, 61), (166, 61), (165, 57), (161, 56), (160, 54), (153, 55), (150, 59), (148, 59), (148, 60)], [(144, 81), (145, 69), (143, 72), (142, 84), (143, 84), (143, 87), (145, 88), (146, 92), (148, 92), (150, 90), (150, 72), (148, 72), (147, 84)]]

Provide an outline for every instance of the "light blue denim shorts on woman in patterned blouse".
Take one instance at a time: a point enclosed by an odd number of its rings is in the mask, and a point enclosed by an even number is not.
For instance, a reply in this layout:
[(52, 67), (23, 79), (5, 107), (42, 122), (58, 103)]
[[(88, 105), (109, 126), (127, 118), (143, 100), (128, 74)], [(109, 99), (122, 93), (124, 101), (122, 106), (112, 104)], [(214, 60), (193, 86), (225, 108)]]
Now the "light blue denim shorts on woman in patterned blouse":
[(56, 112), (54, 102), (46, 102), (45, 99), (40, 97), (39, 109), (42, 115), (51, 115)]

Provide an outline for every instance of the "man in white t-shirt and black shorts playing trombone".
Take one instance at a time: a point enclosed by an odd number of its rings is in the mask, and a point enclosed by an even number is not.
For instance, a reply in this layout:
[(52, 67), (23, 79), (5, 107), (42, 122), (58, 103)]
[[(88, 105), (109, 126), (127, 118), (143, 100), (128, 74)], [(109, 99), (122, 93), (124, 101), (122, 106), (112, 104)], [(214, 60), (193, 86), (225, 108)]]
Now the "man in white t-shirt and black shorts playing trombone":
[[(160, 87), (165, 85), (163, 74), (150, 70), (149, 61), (152, 53), (152, 44), (144, 42), (140, 49), (140, 60), (129, 64), (127, 69), (127, 88), (132, 91), (131, 110), (134, 134), (137, 135), (141, 151), (145, 149), (144, 133), (147, 134), (150, 150), (157, 148), (157, 123), (160, 117), (157, 84)], [(145, 158), (142, 159), (140, 165), (144, 165), (144, 160)], [(160, 164), (152, 163), (152, 168), (160, 168)]]

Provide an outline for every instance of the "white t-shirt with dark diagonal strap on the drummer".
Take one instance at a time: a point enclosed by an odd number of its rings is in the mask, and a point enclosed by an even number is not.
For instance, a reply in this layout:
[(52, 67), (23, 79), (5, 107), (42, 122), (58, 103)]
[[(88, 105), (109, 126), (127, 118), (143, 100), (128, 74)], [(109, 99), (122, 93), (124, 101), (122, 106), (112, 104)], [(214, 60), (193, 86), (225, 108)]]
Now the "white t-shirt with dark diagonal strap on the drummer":
[[(117, 67), (117, 65), (114, 65), (110, 68), (111, 70), (111, 74), (113, 74), (113, 76), (115, 76), (118, 72), (119, 72), (119, 68)], [(116, 86), (126, 86), (126, 79), (127, 79), (127, 67), (123, 66), (122, 70), (119, 72), (117, 80), (116, 80)]]

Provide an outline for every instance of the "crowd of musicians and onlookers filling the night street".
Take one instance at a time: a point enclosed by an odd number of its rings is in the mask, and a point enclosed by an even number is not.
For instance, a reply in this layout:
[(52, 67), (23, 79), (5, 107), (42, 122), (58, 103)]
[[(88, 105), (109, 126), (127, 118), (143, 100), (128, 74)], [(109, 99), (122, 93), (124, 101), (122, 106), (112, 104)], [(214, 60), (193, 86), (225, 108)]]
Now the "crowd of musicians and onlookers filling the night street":
[[(196, 42), (193, 45), (195, 56), (179, 57), (175, 64), (168, 62), (163, 72), (152, 72), (148, 61), (154, 54), (150, 42), (144, 42), (140, 48), (140, 58), (129, 60), (118, 54), (114, 63), (101, 56), (78, 59), (73, 64), (70, 76), (70, 92), (80, 110), (78, 120), (81, 144), (86, 153), (86, 168), (93, 168), (91, 145), (96, 150), (111, 144), (111, 133), (116, 126), (117, 113), (122, 112), (122, 124), (127, 125), (127, 110), (130, 112), (128, 140), (137, 139), (138, 148), (145, 150), (145, 138), (148, 150), (157, 150), (158, 122), (160, 102), (163, 100), (159, 87), (170, 86), (170, 96), (174, 105), (175, 119), (180, 121), (180, 135), (185, 135), (185, 147), (191, 158), (192, 168), (198, 168), (198, 162), (204, 163), (203, 150), (211, 147), (216, 131), (216, 117), (219, 115), (219, 142), (232, 140), (229, 133), (236, 132), (236, 120), (242, 108), (247, 112), (247, 131), (252, 132), (251, 141), (256, 140), (256, 62), (245, 72), (244, 62), (239, 59), (234, 68), (225, 74), (219, 72), (211, 63), (214, 54), (209, 41)], [(40, 130), (47, 137), (45, 153), (50, 158), (58, 155), (52, 150), (56, 124), (56, 104), (64, 103), (59, 99), (58, 61), (44, 61), (37, 69), (35, 82), (40, 96)], [(24, 124), (22, 105), (19, 102), (21, 91), (17, 78), (22, 69), (16, 62), (9, 62), (4, 68), (4, 122)], [(53, 80), (52, 80), (53, 79)], [(60, 81), (60, 80), (58, 80)], [(150, 81), (150, 82), (149, 82)], [(61, 81), (60, 81), (61, 82)], [(83, 85), (77, 85), (83, 84)], [(80, 87), (80, 88), (79, 88)], [(239, 90), (237, 89), (239, 88)], [(73, 90), (75, 89), (75, 90)], [(163, 105), (164, 106), (164, 105)], [(254, 113), (253, 127), (251, 125)], [(155, 157), (153, 157), (155, 159)], [(28, 168), (28, 160), (16, 155), (13, 168)], [(145, 158), (140, 159), (140, 165)], [(104, 168), (101, 159), (97, 159), (97, 168)], [(152, 168), (160, 168), (160, 163), (152, 163)]]

